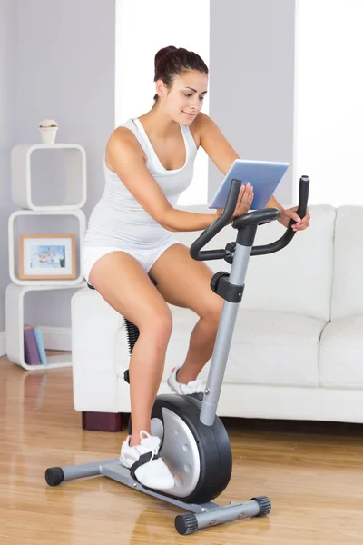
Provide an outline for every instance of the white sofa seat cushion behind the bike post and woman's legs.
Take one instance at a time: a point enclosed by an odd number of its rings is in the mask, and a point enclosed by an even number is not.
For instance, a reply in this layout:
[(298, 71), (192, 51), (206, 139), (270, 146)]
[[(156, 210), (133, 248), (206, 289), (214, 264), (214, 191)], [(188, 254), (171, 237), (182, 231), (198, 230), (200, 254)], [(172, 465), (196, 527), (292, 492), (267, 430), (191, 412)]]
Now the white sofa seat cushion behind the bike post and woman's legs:
[[(172, 337), (163, 381), (172, 367), (182, 365), (191, 330), (198, 317), (189, 309), (171, 305)], [(239, 312), (224, 381), (275, 385), (318, 386), (319, 337), (325, 322), (283, 312)], [(123, 378), (127, 342), (124, 331), (117, 339), (118, 375)], [(251, 364), (250, 362), (253, 362)], [(210, 362), (201, 372), (206, 379)]]

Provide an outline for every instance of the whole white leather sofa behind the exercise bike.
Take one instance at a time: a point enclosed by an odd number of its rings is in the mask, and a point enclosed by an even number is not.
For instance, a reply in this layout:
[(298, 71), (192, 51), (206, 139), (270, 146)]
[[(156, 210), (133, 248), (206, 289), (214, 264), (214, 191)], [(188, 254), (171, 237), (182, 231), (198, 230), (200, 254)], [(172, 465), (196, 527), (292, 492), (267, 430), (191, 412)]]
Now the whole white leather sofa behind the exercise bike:
[[(208, 212), (206, 206), (184, 210)], [(221, 400), (220, 416), (363, 421), (363, 207), (310, 206), (311, 224), (279, 253), (254, 256)], [(256, 244), (280, 237), (278, 222), (258, 229)], [(177, 233), (190, 245), (199, 233)], [(208, 248), (225, 247), (225, 228)], [(208, 262), (217, 272), (225, 261)], [(186, 354), (198, 317), (172, 307), (173, 332), (160, 392)], [(130, 412), (123, 372), (129, 349), (123, 316), (95, 291), (72, 300), (74, 409), (113, 415)], [(206, 378), (209, 363), (201, 376)], [(97, 425), (85, 429), (98, 429)]]

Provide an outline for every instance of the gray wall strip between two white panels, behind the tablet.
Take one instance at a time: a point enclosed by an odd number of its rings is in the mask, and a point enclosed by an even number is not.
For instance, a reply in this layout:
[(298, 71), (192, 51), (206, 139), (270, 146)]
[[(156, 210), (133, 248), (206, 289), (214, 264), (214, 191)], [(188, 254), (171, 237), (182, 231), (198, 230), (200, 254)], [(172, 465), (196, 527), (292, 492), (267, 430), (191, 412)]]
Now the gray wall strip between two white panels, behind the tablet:
[[(242, 159), (291, 163), (276, 192), (291, 203), (295, 0), (211, 0), (210, 114)], [(209, 197), (221, 183), (210, 162)]]

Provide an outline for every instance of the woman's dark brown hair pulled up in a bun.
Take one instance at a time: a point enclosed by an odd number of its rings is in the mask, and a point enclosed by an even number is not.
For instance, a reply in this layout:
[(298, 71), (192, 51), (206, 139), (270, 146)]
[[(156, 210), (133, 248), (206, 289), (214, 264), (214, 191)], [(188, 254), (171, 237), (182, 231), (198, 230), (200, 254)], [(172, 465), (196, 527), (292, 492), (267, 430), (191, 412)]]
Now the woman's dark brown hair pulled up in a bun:
[[(154, 82), (162, 80), (163, 83), (170, 87), (172, 81), (177, 75), (181, 75), (189, 70), (199, 70), (203, 74), (208, 74), (208, 66), (204, 63), (199, 54), (193, 51), (188, 51), (183, 47), (162, 47), (155, 54), (155, 76)], [(155, 94), (154, 100), (158, 100), (158, 95)]]

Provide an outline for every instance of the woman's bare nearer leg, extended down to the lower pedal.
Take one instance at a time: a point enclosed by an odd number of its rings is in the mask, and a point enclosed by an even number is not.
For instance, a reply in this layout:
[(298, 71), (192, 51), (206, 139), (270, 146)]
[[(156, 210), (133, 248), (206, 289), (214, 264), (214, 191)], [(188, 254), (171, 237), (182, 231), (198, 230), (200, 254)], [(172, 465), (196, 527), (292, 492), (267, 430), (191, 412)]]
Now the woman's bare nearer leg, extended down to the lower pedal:
[(162, 380), (172, 313), (142, 265), (128, 253), (104, 255), (93, 265), (89, 282), (140, 331), (130, 359), (130, 446), (134, 446), (140, 443), (140, 431), (151, 432), (152, 406)]

